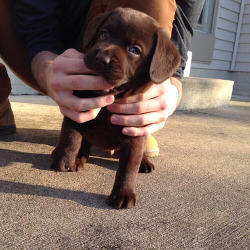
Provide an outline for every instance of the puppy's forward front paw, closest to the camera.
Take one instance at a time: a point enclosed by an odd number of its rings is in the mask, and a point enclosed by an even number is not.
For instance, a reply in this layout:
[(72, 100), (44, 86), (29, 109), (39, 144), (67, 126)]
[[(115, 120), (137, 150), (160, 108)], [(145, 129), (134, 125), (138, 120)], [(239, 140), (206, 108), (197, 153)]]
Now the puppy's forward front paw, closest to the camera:
[(135, 206), (136, 195), (134, 192), (112, 192), (108, 198), (108, 204), (116, 209), (132, 208)]

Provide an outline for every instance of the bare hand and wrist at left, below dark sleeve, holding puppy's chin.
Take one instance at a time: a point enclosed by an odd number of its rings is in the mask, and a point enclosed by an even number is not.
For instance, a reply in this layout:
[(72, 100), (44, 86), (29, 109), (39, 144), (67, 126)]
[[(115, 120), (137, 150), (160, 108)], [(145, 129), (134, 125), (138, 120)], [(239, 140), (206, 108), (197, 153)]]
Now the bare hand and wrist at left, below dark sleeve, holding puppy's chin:
[(44, 94), (50, 96), (63, 115), (83, 123), (94, 119), (100, 109), (114, 102), (114, 96), (78, 98), (73, 90), (111, 89), (102, 77), (93, 75), (84, 63), (84, 54), (68, 49), (61, 55), (39, 52), (32, 61), (32, 73)]

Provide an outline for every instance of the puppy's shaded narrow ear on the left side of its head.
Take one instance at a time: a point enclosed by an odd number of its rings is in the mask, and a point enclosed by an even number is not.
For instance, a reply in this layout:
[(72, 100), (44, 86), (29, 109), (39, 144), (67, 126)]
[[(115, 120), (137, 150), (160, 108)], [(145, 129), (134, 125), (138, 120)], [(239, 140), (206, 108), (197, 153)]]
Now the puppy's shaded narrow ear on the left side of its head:
[(84, 31), (82, 48), (85, 50), (89, 48), (96, 40), (97, 35), (102, 27), (102, 25), (106, 22), (106, 20), (111, 16), (112, 12), (105, 12), (94, 17), (87, 28)]

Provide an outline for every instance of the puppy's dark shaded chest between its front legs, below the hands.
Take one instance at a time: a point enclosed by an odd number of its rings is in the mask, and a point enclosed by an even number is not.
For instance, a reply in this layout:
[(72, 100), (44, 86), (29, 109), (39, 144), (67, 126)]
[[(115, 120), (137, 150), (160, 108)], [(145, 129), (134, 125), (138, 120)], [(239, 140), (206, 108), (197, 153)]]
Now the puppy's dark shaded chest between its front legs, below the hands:
[(102, 108), (94, 120), (87, 122), (83, 134), (92, 145), (109, 150), (120, 148), (122, 139), (122, 127), (111, 124), (110, 115), (106, 108)]

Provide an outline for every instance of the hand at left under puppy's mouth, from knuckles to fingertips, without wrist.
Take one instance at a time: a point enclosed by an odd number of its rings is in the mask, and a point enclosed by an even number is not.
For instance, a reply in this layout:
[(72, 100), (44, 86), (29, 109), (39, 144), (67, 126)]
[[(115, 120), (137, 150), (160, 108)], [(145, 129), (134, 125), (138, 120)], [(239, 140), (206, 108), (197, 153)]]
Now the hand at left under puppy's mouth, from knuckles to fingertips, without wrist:
[(114, 101), (114, 96), (78, 98), (73, 90), (102, 90), (112, 88), (102, 77), (90, 75), (84, 63), (84, 54), (68, 49), (52, 62), (50, 85), (53, 99), (63, 115), (83, 123), (94, 119), (100, 109)]

